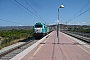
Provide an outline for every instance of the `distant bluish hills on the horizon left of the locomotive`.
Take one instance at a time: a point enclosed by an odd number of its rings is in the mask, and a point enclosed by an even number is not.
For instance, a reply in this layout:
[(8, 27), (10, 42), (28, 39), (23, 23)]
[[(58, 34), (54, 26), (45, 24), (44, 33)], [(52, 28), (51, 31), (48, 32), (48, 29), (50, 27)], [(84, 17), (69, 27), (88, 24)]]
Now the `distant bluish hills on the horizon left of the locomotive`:
[(12, 29), (26, 29), (31, 30), (33, 29), (33, 26), (0, 26), (0, 30), (12, 30)]

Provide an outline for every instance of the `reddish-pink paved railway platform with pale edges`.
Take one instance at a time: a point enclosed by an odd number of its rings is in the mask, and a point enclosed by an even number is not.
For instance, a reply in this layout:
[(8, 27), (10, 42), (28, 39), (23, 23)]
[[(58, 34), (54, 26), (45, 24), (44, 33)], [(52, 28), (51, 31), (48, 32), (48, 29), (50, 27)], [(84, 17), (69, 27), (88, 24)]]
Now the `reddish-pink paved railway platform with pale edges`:
[(56, 31), (25, 51), (16, 55), (11, 60), (90, 60), (90, 45), (78, 41), (62, 32)]

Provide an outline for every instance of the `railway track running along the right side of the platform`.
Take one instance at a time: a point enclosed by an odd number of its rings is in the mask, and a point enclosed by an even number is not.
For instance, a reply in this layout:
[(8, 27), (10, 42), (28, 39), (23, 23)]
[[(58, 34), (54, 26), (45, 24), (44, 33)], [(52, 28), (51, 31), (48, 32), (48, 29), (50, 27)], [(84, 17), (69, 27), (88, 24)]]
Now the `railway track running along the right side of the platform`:
[(86, 37), (84, 35), (68, 32), (68, 31), (62, 31), (62, 32), (90, 44), (90, 37)]

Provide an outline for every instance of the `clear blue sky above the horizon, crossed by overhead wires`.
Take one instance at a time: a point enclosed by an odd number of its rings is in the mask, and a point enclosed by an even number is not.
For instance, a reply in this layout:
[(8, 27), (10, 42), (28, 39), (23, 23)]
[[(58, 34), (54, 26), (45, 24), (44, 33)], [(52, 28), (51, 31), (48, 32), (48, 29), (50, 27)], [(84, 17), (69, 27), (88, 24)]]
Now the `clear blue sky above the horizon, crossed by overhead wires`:
[(0, 26), (55, 24), (62, 4), (60, 23), (90, 25), (90, 0), (0, 0)]

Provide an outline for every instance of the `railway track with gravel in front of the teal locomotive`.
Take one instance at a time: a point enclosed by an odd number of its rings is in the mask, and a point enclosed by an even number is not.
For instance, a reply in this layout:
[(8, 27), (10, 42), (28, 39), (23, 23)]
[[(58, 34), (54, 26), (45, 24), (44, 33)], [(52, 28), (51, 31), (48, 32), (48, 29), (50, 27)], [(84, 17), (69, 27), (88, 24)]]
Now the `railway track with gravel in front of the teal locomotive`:
[(30, 41), (21, 41), (25, 43), (19, 46), (16, 46), (5, 53), (0, 54), (0, 60), (10, 60), (11, 58), (13, 58), (14, 56), (16, 56), (17, 54), (19, 54), (20, 52), (22, 52), (23, 50), (25, 50), (26, 48), (28, 48), (29, 46), (31, 46), (37, 41), (38, 40), (34, 40), (34, 39)]

